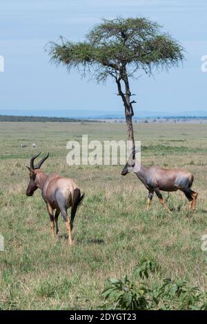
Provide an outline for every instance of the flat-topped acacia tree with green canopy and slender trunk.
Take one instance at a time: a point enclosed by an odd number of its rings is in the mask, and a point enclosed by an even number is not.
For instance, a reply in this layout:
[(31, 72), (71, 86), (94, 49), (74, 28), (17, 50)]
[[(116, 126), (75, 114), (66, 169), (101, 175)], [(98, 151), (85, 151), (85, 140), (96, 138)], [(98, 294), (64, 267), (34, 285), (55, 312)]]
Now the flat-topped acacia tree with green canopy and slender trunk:
[[(153, 68), (168, 70), (184, 59), (183, 48), (162, 27), (146, 18), (118, 17), (103, 19), (86, 35), (86, 41), (73, 43), (61, 37), (61, 43), (50, 42), (50, 58), (55, 63), (77, 68), (97, 82), (111, 77), (117, 84), (118, 95), (124, 103), (128, 139), (135, 148), (129, 79), (137, 79), (137, 71), (151, 75)], [(81, 70), (81, 67), (83, 68)]]

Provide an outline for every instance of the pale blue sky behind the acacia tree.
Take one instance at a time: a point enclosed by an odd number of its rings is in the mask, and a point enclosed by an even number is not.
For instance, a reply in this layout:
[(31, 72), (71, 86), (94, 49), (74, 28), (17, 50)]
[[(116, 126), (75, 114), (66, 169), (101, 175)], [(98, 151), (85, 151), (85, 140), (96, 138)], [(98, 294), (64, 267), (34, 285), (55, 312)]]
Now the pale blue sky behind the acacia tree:
[(186, 48), (186, 61), (169, 73), (131, 81), (137, 94), (135, 113), (207, 110), (207, 72), (201, 56), (207, 54), (206, 0), (1, 0), (0, 110), (107, 110), (122, 111), (115, 84), (97, 85), (76, 72), (51, 65), (44, 52), (48, 41), (60, 35), (72, 40), (100, 19), (117, 16), (148, 17), (164, 26)]

